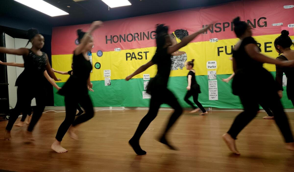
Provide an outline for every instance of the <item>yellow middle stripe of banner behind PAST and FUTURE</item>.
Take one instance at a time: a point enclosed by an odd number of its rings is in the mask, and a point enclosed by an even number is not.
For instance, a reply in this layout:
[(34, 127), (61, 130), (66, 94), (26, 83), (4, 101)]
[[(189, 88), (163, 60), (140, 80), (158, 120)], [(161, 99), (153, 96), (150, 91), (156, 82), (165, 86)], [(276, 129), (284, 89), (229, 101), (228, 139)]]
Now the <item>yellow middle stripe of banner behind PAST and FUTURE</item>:
[[(269, 57), (276, 58), (278, 53), (276, 52), (273, 42), (279, 36), (266, 35), (255, 36), (254, 39), (260, 43), (263, 54)], [(291, 36), (294, 39), (294, 36)], [(238, 42), (239, 39), (223, 39), (217, 42), (196, 42), (189, 43), (186, 47), (183, 47), (181, 51), (187, 53), (187, 60), (195, 59), (194, 69), (196, 75), (207, 75), (207, 71), (216, 70), (217, 74), (231, 74), (232, 61), (229, 60), (232, 57), (232, 46)], [(131, 50), (121, 51), (109, 51), (103, 52), (102, 57), (98, 57), (96, 53), (92, 54), (93, 73), (91, 73), (91, 80), (104, 80), (104, 70), (111, 70), (111, 79), (125, 79), (126, 76), (133, 73), (141, 65), (149, 62), (154, 53), (156, 47), (138, 48)], [(58, 71), (71, 70), (72, 54), (67, 55), (52, 55), (52, 66)], [(216, 61), (217, 69), (207, 69), (207, 61)], [(96, 62), (101, 64), (100, 69), (95, 69)], [(275, 65), (265, 64), (264, 67), (269, 71), (275, 71)], [(143, 74), (150, 74), (150, 77), (156, 75), (156, 65), (153, 65), (145, 72), (135, 76), (134, 78), (142, 78)], [(68, 79), (68, 75), (56, 74), (58, 78), (62, 79), (60, 82), (65, 82)], [(171, 77), (186, 76), (187, 70), (173, 70), (171, 71)]]

